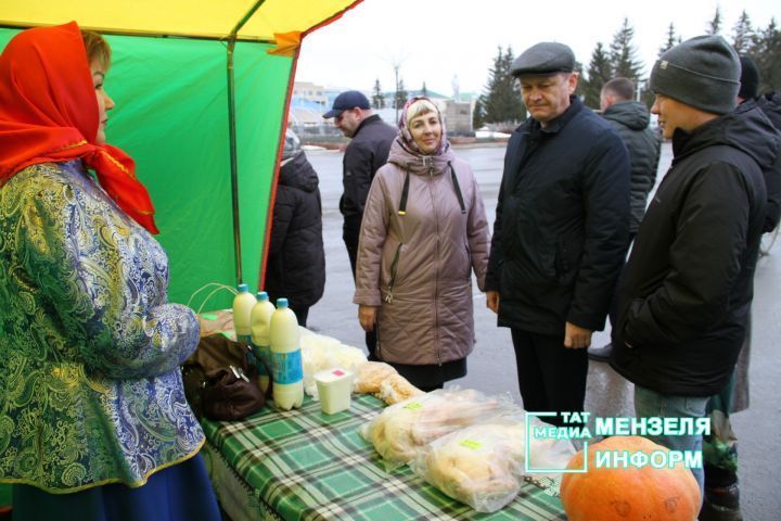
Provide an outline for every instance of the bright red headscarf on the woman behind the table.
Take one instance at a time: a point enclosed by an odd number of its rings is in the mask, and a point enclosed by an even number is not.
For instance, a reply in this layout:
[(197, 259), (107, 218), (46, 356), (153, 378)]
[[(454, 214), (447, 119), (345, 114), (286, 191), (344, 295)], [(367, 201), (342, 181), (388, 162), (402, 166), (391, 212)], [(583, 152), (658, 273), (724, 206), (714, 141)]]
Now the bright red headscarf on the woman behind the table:
[(98, 117), (76, 22), (16, 35), (0, 54), (0, 187), (29, 165), (81, 158), (121, 209), (157, 233), (136, 163), (116, 147), (95, 143)]

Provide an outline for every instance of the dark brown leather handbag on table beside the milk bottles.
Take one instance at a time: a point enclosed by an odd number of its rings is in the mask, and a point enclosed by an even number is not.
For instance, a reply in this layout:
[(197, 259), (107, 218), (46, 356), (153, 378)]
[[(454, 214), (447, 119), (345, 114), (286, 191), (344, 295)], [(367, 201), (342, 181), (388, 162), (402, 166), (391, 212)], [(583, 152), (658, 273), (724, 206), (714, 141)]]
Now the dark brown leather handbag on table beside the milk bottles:
[(201, 339), (182, 366), (184, 394), (196, 417), (241, 420), (263, 408), (266, 399), (247, 352), (245, 343), (222, 334)]

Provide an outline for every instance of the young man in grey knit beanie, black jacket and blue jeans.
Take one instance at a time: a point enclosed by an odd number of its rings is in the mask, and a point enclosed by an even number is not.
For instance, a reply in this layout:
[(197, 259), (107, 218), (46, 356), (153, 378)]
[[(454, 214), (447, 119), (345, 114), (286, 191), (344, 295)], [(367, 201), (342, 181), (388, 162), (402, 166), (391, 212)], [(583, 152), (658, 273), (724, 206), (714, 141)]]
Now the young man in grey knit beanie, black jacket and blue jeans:
[[(611, 358), (635, 383), (638, 418), (704, 417), (745, 335), (765, 218), (763, 168), (781, 136), (758, 109), (734, 111), (740, 71), (724, 38), (701, 36), (665, 52), (651, 73), (651, 112), (674, 158), (618, 284)], [(676, 450), (702, 448), (696, 429), (649, 437)], [(703, 469), (692, 471), (702, 490)]]

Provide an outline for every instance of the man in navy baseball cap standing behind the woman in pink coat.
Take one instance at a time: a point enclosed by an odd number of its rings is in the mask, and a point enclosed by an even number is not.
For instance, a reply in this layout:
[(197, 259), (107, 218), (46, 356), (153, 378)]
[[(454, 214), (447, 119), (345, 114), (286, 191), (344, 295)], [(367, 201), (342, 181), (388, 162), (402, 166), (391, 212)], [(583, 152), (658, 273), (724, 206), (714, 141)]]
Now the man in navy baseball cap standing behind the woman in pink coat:
[[(325, 119), (334, 118), (334, 125), (351, 141), (343, 160), (344, 193), (340, 200), (340, 212), (344, 216), (342, 238), (349, 255), (350, 269), (355, 280), (356, 258), (360, 223), (369, 188), (376, 170), (387, 163), (390, 143), (396, 139), (396, 128), (384, 123), (374, 114), (369, 99), (357, 90), (342, 92), (334, 100), (333, 107), (323, 114)], [(376, 332), (366, 333), (369, 359), (377, 360)]]

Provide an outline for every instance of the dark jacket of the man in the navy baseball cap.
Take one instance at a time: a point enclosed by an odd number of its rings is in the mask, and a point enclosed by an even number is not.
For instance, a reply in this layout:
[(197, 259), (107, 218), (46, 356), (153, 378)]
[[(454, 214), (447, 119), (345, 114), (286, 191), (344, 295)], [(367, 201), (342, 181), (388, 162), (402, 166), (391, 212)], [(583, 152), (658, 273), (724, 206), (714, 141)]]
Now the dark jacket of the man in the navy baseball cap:
[(360, 220), (371, 181), (376, 170), (387, 163), (390, 144), (397, 134), (396, 128), (376, 114), (363, 119), (356, 129), (343, 158), (344, 193), (340, 211), (345, 219), (353, 217)]

